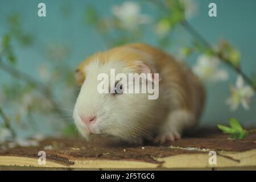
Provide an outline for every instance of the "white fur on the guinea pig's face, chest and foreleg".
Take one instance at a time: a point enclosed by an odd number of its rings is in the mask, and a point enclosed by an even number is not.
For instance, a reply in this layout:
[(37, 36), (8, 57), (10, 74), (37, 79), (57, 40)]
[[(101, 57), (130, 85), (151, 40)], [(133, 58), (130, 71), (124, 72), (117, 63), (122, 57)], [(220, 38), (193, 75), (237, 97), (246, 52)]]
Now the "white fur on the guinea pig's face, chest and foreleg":
[[(97, 57), (86, 66), (86, 79), (81, 86), (73, 111), (79, 133), (89, 138), (88, 131), (79, 115), (96, 116), (91, 127), (95, 134), (112, 135), (127, 142), (140, 143), (142, 139), (165, 142), (180, 138), (183, 129), (195, 125), (195, 113), (180, 109), (179, 85), (174, 82), (159, 84), (158, 100), (148, 100), (148, 94), (100, 94), (97, 76), (110, 69), (115, 73), (132, 73), (125, 61), (106, 61), (102, 64)], [(154, 69), (154, 68), (153, 68)], [(161, 75), (161, 73), (160, 73)], [(165, 77), (162, 71), (162, 77)], [(193, 96), (197, 97), (197, 96)], [(197, 98), (191, 98), (196, 102)]]

